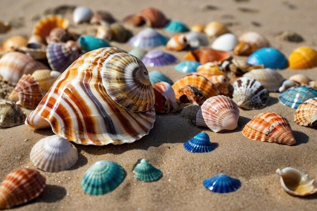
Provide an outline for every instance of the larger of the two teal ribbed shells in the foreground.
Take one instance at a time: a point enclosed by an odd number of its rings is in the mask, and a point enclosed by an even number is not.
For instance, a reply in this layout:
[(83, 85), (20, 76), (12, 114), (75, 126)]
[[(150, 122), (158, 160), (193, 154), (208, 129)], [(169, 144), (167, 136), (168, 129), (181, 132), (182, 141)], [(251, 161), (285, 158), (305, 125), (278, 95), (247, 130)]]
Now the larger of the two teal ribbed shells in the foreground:
[(95, 162), (82, 179), (82, 188), (90, 195), (103, 195), (116, 189), (124, 180), (123, 167), (112, 161)]

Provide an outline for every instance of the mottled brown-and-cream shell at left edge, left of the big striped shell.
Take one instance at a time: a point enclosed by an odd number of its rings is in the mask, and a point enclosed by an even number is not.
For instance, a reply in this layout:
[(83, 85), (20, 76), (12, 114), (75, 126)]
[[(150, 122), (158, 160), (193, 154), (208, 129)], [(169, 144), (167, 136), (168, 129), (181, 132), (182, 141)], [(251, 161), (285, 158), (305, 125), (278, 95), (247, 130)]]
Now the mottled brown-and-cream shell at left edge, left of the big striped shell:
[(24, 123), (24, 111), (10, 100), (0, 100), (0, 127), (12, 128)]

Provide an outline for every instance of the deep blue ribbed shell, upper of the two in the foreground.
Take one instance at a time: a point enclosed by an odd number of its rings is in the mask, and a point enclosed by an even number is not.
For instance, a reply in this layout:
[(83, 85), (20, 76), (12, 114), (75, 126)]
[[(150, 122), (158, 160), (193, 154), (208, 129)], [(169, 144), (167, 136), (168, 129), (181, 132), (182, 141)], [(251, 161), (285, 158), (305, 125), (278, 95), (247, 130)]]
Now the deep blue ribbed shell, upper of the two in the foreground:
[(184, 148), (190, 152), (211, 152), (215, 149), (210, 142), (209, 136), (202, 132), (195, 135), (192, 139), (184, 143)]

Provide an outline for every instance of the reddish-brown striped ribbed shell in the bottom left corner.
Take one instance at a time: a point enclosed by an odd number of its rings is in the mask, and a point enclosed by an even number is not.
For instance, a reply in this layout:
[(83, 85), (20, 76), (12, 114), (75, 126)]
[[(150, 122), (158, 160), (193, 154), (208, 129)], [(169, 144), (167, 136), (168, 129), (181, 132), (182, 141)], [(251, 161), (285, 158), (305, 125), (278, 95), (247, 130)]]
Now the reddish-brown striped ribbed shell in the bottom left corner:
[(46, 179), (32, 168), (18, 168), (10, 172), (0, 184), (0, 209), (24, 204), (41, 194)]

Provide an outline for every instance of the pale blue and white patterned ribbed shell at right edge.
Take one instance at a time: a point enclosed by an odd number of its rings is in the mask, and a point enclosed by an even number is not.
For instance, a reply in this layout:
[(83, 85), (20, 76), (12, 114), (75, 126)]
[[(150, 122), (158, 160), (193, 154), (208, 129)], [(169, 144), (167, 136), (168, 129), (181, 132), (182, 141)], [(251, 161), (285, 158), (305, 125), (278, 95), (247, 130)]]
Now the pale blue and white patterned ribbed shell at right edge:
[(292, 87), (279, 95), (279, 101), (291, 108), (298, 108), (308, 99), (317, 97), (317, 90), (310, 87)]

